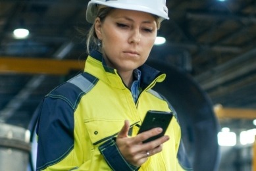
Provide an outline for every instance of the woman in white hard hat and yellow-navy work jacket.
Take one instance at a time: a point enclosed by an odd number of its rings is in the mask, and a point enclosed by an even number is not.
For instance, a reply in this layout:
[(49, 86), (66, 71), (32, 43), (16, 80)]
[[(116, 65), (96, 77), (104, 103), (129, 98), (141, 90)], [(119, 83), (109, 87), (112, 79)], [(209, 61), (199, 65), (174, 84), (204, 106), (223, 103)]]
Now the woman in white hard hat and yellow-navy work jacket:
[[(137, 134), (148, 110), (170, 111), (151, 88), (165, 74), (146, 66), (165, 1), (91, 0), (84, 73), (51, 91), (39, 110), (37, 170), (184, 170), (180, 126)], [(183, 168), (182, 168), (183, 167)]]

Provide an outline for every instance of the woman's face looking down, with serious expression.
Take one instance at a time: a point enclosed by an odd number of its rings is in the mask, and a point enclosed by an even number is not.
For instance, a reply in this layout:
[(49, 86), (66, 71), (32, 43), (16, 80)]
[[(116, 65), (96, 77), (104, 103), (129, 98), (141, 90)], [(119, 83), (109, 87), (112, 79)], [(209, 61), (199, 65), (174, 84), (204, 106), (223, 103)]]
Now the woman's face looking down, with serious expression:
[(95, 32), (107, 65), (130, 72), (147, 60), (157, 36), (157, 22), (147, 12), (114, 9), (103, 22), (96, 18)]

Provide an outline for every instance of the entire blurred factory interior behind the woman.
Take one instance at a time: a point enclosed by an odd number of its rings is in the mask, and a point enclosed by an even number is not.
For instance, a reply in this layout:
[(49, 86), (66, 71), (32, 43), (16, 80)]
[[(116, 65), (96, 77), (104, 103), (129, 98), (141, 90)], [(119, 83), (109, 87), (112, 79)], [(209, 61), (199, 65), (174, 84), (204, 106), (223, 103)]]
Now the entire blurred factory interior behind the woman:
[[(84, 68), (87, 4), (0, 0), (0, 157), (10, 155), (0, 170), (13, 164), (10, 149), (28, 153), (17, 163), (34, 170), (34, 112), (51, 89)], [(166, 41), (154, 45), (147, 64), (167, 74), (156, 88), (183, 115), (190, 160), (197, 170), (256, 170), (256, 1), (167, 0), (166, 6), (170, 20), (158, 32)], [(28, 36), (15, 37), (17, 28)], [(24, 143), (15, 139), (24, 136)]]

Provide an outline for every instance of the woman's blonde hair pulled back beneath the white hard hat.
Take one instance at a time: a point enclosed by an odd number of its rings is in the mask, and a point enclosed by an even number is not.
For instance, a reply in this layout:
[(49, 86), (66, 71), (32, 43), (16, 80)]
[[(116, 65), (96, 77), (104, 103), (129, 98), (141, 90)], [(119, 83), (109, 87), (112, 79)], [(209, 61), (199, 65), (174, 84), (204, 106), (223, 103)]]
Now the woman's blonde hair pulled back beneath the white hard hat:
[[(100, 18), (101, 22), (104, 22), (106, 16), (114, 9), (115, 8), (113, 7), (98, 7), (97, 17)], [(161, 26), (161, 18), (156, 15), (153, 16), (155, 17), (155, 21), (157, 22), (157, 30), (159, 30)], [(91, 26), (86, 39), (86, 51), (88, 54), (90, 54), (90, 49), (97, 49), (101, 51), (101, 47), (97, 45), (98, 41), (99, 39), (95, 32), (95, 22), (93, 22), (93, 25)]]

